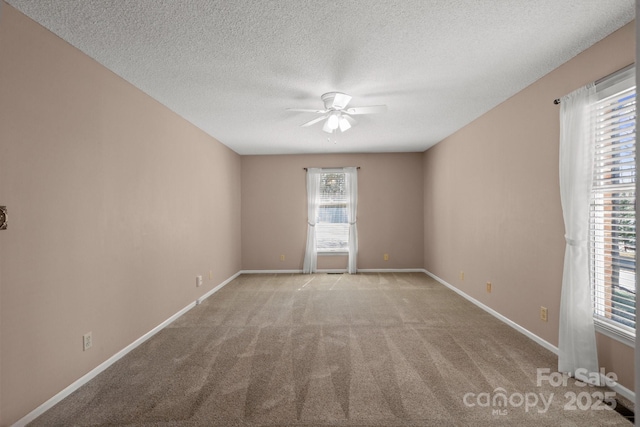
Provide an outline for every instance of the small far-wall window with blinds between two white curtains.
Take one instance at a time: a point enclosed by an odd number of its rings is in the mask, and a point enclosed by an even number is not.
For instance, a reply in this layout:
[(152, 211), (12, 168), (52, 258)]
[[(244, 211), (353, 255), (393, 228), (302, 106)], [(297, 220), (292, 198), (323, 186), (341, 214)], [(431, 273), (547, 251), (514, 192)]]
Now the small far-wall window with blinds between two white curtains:
[(319, 204), (316, 216), (318, 252), (348, 252), (349, 197), (344, 172), (320, 174)]

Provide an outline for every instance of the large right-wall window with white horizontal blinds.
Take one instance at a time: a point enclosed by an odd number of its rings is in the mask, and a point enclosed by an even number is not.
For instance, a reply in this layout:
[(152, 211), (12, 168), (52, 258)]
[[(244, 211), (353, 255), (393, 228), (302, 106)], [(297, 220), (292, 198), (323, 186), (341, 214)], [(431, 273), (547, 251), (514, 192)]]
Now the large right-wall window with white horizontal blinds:
[(590, 209), (591, 288), (596, 325), (635, 340), (636, 88), (634, 69), (596, 85)]

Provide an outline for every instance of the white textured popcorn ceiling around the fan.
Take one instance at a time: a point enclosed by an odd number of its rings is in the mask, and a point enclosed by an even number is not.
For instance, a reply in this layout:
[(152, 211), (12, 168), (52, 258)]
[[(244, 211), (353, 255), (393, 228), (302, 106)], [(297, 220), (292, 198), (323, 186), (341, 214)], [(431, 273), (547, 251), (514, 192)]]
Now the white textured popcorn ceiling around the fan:
[[(240, 154), (424, 151), (635, 13), (634, 0), (7, 2)], [(329, 91), (388, 112), (328, 140), (299, 126), (313, 114), (285, 111)]]

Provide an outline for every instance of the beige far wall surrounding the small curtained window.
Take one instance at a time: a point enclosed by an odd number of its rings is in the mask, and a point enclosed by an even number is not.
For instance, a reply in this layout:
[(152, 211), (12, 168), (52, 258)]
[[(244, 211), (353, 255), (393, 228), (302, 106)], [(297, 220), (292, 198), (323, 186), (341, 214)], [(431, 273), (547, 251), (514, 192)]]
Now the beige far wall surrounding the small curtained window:
[[(333, 166), (361, 167), (358, 268), (422, 268), (422, 153), (398, 153), (242, 156), (243, 269), (302, 269), (307, 238), (303, 168)], [(385, 253), (389, 261), (383, 261)], [(345, 267), (345, 257), (318, 259), (320, 269)]]

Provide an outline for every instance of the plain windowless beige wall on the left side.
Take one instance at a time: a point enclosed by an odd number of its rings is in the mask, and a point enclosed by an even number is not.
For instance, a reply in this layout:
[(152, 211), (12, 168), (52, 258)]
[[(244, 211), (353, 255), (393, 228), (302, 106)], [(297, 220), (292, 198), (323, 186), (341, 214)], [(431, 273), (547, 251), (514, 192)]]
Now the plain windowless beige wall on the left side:
[[(0, 6), (6, 426), (240, 270), (241, 164)], [(83, 352), (89, 331), (93, 348)]]

